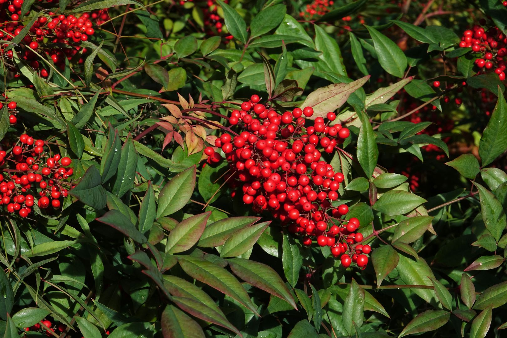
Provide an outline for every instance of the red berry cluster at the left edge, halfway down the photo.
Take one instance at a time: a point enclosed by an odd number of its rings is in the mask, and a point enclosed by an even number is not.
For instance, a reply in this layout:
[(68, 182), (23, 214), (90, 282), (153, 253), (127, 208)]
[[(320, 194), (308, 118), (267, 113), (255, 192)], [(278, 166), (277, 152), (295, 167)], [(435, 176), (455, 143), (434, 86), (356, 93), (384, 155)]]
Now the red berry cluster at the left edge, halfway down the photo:
[(0, 205), (6, 211), (27, 217), (37, 195), (40, 208), (60, 208), (73, 174), (72, 168), (66, 168), (71, 160), (59, 154), (50, 156), (45, 147), (43, 140), (23, 134), (9, 153), (0, 151), (0, 166), (4, 168), (0, 174)]

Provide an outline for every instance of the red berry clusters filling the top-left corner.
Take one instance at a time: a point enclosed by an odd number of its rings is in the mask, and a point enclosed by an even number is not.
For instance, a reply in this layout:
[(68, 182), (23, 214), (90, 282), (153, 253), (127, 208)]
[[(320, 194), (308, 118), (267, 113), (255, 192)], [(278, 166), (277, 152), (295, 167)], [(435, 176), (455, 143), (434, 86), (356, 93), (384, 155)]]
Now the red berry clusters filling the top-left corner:
[[(0, 39), (11, 41), (14, 36), (21, 33), (24, 28), (20, 20), (22, 4), (23, 0), (11, 0), (3, 3), (7, 10), (0, 13), (0, 28), (2, 29)], [(102, 16), (95, 16), (102, 18)], [(48, 16), (42, 16), (35, 20), (24, 36), (22, 42), (25, 48), (20, 57), (27, 61), (34, 70), (40, 70), (41, 77), (46, 78), (48, 77), (48, 71), (42, 68), (42, 64), (38, 60), (39, 56), (34, 52), (48, 55), (54, 64), (63, 67), (65, 58), (71, 60), (81, 50), (81, 46), (79, 46), (81, 42), (87, 41), (88, 36), (94, 33), (95, 30), (92, 21), (90, 21), (89, 13), (83, 13), (81, 16), (76, 17), (72, 14), (65, 16), (49, 12)], [(47, 47), (49, 46), (48, 43), (58, 44), (59, 47)], [(62, 48), (62, 46), (67, 46), (67, 48)], [(4, 53), (5, 47), (6, 45), (0, 45), (2, 53)], [(12, 53), (12, 49), (5, 52), (8, 58), (13, 57)], [(82, 63), (83, 59), (80, 58), (78, 62)]]

